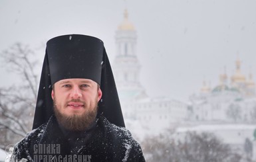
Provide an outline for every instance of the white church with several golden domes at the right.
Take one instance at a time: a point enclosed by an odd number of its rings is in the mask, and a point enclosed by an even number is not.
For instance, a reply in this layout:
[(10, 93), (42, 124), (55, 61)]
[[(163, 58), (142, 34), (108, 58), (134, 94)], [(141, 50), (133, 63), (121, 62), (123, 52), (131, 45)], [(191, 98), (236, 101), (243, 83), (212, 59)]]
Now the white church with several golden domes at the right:
[(255, 83), (241, 72), (241, 61), (235, 62), (235, 73), (219, 75), (219, 85), (211, 89), (205, 82), (198, 95), (190, 97), (190, 120), (211, 122), (256, 123)]

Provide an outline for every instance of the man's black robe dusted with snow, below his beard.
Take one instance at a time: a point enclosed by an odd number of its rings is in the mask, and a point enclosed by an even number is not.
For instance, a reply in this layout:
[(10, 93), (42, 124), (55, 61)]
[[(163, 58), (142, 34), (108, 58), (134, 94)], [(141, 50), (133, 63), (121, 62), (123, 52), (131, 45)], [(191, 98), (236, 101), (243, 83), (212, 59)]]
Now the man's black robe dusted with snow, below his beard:
[(104, 116), (85, 132), (63, 131), (52, 116), (15, 145), (14, 155), (29, 161), (145, 161), (140, 144), (130, 132), (110, 124)]

